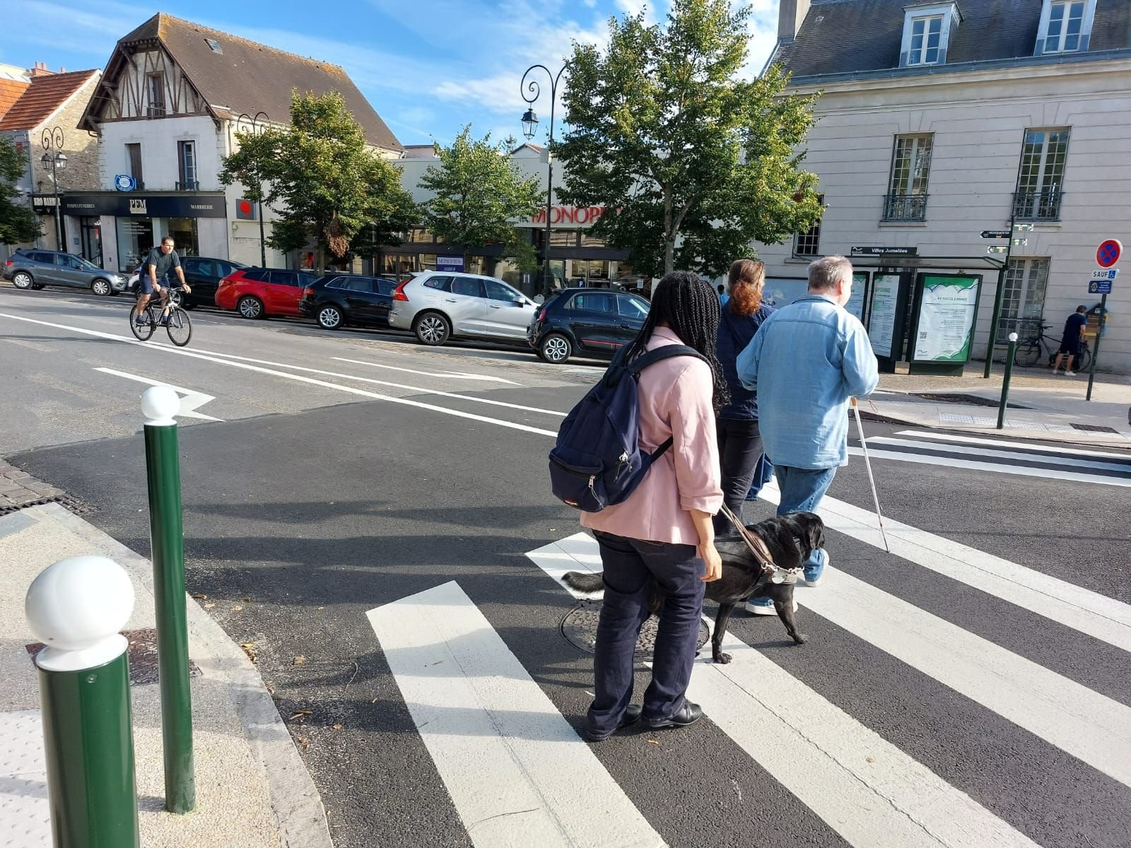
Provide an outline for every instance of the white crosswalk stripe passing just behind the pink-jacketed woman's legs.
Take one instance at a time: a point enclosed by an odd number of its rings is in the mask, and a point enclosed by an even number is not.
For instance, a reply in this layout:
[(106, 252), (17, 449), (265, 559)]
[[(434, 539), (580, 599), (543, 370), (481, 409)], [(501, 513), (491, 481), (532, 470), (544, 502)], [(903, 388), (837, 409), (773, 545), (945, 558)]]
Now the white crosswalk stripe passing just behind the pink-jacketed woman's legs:
[[(559, 583), (567, 571), (601, 570), (597, 543), (585, 533), (527, 556)], [(688, 696), (848, 843), (1035, 847), (966, 793), (731, 633), (723, 648), (732, 655), (729, 665), (697, 661)]]

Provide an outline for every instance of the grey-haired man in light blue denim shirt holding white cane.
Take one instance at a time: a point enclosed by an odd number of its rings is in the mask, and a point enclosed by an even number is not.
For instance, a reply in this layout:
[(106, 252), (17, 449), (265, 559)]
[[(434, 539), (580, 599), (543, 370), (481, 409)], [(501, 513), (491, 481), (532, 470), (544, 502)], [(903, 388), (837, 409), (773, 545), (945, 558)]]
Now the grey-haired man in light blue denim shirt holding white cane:
[[(870, 395), (880, 381), (863, 325), (845, 311), (852, 263), (824, 257), (809, 266), (809, 294), (779, 309), (739, 355), (739, 379), (758, 392), (766, 457), (782, 490), (777, 513), (817, 510), (848, 464), (848, 398)], [(829, 557), (823, 548), (805, 563), (805, 585), (817, 586)], [(757, 598), (746, 605), (763, 609)], [(772, 604), (769, 605), (772, 613)]]

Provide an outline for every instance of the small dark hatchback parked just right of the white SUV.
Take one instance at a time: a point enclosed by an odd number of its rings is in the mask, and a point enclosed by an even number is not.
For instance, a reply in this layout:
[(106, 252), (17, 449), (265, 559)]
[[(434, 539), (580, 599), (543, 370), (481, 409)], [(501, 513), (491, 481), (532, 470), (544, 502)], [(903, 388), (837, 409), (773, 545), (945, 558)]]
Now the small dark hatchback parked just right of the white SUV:
[(570, 356), (612, 358), (644, 327), (649, 303), (608, 288), (567, 288), (538, 310), (526, 331), (530, 347), (546, 362)]

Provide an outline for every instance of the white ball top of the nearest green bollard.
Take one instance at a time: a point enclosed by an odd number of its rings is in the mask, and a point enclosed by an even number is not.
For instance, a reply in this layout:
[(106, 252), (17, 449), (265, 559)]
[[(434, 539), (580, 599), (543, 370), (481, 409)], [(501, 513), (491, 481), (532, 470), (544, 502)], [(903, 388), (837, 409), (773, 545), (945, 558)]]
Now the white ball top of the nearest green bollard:
[(35, 664), (49, 672), (79, 672), (119, 657), (127, 648), (118, 631), (133, 613), (129, 574), (105, 556), (71, 556), (32, 581), (24, 602), (32, 632), (46, 648)]

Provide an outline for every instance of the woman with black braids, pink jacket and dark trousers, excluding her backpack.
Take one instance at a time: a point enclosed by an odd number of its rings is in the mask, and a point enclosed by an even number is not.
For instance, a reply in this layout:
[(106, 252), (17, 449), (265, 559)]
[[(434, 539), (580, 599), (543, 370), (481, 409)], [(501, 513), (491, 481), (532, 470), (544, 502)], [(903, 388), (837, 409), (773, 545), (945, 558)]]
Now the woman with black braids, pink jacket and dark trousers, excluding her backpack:
[[(601, 512), (582, 512), (604, 564), (605, 596), (597, 624), (594, 699), (585, 736), (599, 742), (642, 718), (653, 728), (683, 727), (702, 715), (687, 700), (705, 583), (723, 563), (713, 517), (723, 503), (715, 416), (728, 395), (716, 358), (719, 303), (690, 271), (661, 279), (651, 310), (625, 352), (627, 361), (663, 345), (687, 345), (703, 358), (672, 356), (640, 372), (640, 449), (672, 447), (653, 462), (632, 493)], [(644, 704), (632, 704), (633, 651), (649, 616), (655, 580), (664, 595)]]

